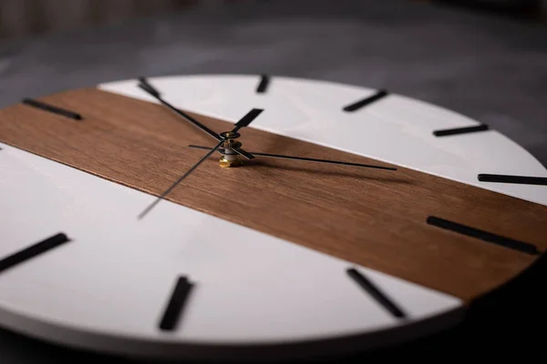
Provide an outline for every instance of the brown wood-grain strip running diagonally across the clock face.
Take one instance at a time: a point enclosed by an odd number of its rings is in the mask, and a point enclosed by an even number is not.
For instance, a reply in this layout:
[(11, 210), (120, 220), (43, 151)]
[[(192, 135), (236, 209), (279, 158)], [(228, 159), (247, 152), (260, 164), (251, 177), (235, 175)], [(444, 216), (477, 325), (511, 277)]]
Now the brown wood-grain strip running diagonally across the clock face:
[[(214, 145), (164, 107), (126, 96), (89, 88), (41, 100), (84, 120), (10, 106), (0, 110), (0, 141), (156, 196), (206, 154), (188, 145)], [(196, 117), (219, 133), (233, 126)], [(259, 124), (260, 116), (253, 123)], [(249, 152), (387, 166), (253, 127), (241, 134)], [(386, 171), (262, 157), (221, 168), (218, 157), (204, 162), (168, 199), (466, 301), (519, 274), (537, 257), (432, 227), (428, 216), (525, 241), (540, 251), (547, 246), (547, 207), (442, 177), (400, 167)]]

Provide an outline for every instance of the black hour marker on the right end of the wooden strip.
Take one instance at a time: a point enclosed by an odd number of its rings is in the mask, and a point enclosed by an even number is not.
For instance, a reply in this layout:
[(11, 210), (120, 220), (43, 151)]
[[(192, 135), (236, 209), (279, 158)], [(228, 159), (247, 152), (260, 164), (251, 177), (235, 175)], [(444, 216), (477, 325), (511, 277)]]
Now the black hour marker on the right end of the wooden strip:
[(528, 253), (532, 255), (540, 254), (538, 248), (536, 248), (536, 246), (532, 244), (524, 243), (522, 241), (514, 240), (511, 238), (505, 238), (500, 235), (492, 234), (475, 227), (468, 227), (449, 220), (445, 220), (444, 218), (428, 217), (428, 224), (435, 227), (451, 230), (459, 234), (467, 235), (471, 238), (479, 238), (489, 243), (497, 244), (501, 247), (518, 250), (522, 253)]

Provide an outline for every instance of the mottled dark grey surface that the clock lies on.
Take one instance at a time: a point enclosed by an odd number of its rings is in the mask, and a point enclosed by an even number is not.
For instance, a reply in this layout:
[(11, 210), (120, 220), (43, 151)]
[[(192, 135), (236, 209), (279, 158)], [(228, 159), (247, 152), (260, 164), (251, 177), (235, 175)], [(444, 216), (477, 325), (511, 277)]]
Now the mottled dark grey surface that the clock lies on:
[[(270, 73), (449, 107), (547, 166), (547, 26), (408, 1), (265, 1), (0, 44), (0, 106), (136, 76)], [(0, 358), (65, 350), (0, 331)]]

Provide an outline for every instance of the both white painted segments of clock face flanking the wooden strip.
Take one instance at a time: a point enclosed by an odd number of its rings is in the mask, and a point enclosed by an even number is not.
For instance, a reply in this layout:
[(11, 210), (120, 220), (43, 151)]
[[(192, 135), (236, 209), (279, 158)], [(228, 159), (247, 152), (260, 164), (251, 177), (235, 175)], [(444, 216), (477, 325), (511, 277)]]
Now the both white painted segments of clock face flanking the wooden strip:
[[(172, 76), (150, 82), (165, 100), (191, 112), (236, 122), (253, 107), (263, 108), (252, 127), (547, 205), (544, 186), (478, 180), (481, 173), (547, 177), (507, 137), (493, 130), (432, 133), (479, 126), (477, 121), (397, 95), (344, 112), (343, 106), (376, 90), (272, 77), (257, 93), (260, 79)], [(157, 103), (137, 85), (128, 80), (98, 87)], [(2, 270), (0, 263), (0, 324), (6, 328), (127, 355), (224, 357), (222, 348), (368, 335), (357, 344), (365, 348), (388, 342), (389, 336), (370, 339), (387, 329), (415, 325), (412, 335), (441, 329), (453, 323), (447, 315), (463, 307), (446, 293), (169, 201), (139, 220), (155, 197), (5, 143), (0, 147), (0, 259), (59, 232), (70, 239), (15, 267)], [(347, 268), (380, 288), (404, 318), (359, 288)], [(161, 329), (179, 277), (191, 290), (176, 322)], [(428, 325), (420, 325), (425, 320)]]

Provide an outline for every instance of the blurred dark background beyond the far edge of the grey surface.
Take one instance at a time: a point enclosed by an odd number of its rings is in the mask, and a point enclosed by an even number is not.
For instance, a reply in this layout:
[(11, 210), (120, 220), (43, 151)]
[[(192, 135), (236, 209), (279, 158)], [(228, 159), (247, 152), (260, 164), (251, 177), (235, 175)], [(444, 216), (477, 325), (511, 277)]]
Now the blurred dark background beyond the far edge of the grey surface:
[[(119, 19), (193, 7), (220, 7), (242, 0), (0, 0), (0, 38), (66, 31)], [(260, 2), (264, 0), (243, 0)], [(288, 1), (288, 0), (281, 0)], [(294, 1), (294, 0), (290, 0)], [(298, 0), (296, 0), (298, 1)], [(356, 0), (359, 1), (359, 0)], [(382, 0), (378, 0), (382, 1)], [(488, 9), (547, 25), (547, 0), (408, 0)]]

